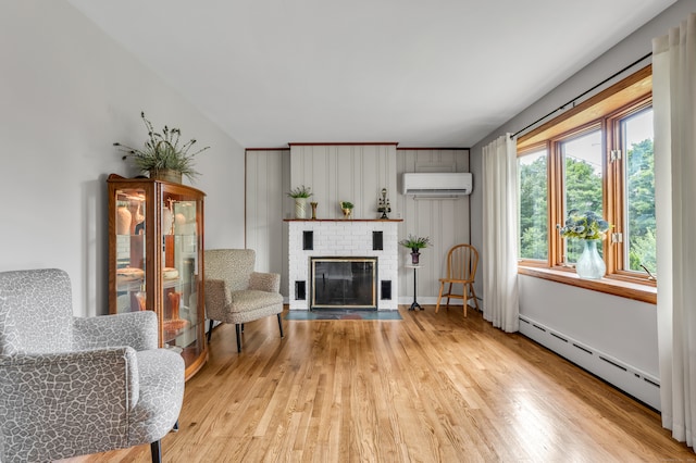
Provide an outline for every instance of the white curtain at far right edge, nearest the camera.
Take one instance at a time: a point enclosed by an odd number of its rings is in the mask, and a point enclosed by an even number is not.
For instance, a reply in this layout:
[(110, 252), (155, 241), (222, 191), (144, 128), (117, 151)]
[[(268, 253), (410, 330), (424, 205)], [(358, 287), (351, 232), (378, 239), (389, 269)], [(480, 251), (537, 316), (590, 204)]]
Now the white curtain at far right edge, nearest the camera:
[(696, 437), (696, 14), (652, 40), (662, 426)]

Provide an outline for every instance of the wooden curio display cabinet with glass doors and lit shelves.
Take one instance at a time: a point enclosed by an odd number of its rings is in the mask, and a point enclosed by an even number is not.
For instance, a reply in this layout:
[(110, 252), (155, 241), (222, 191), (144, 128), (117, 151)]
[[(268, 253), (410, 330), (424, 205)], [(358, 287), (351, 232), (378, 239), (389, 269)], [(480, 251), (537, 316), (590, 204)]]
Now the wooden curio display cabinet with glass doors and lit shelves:
[(181, 352), (186, 379), (208, 359), (203, 198), (195, 188), (111, 174), (109, 313), (151, 310), (160, 347)]

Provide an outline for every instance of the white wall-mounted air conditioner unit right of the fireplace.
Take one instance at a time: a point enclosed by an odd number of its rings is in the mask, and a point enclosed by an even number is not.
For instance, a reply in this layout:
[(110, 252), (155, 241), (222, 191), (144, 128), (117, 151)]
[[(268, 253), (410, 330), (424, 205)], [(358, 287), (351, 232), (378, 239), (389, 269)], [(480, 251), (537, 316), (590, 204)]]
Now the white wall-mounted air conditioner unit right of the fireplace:
[(473, 182), (468, 172), (405, 173), (401, 192), (417, 197), (458, 197), (471, 193)]

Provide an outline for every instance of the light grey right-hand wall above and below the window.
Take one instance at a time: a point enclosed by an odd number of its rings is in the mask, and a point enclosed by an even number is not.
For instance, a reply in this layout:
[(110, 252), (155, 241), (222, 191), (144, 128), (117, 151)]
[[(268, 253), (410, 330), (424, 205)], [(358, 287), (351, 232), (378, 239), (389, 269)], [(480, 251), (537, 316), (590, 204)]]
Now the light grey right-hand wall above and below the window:
[[(651, 39), (667, 34), (670, 27), (679, 25), (693, 11), (696, 11), (696, 0), (674, 3), (543, 99), (494, 130), (472, 148), (471, 168), (474, 179), (481, 178), (483, 146), (505, 133), (514, 133), (525, 127), (650, 53)], [(636, 71), (644, 65), (642, 63), (636, 66)], [(622, 77), (625, 75), (617, 79)], [(613, 82), (607, 86), (611, 84)], [(474, 186), (471, 201), (472, 242), (482, 249), (481, 188)], [(485, 264), (486, 256), (482, 255), (484, 267)], [(532, 277), (520, 277), (520, 312), (523, 315), (659, 377), (655, 305)], [(483, 295), (481, 281), (476, 285), (476, 290)]]

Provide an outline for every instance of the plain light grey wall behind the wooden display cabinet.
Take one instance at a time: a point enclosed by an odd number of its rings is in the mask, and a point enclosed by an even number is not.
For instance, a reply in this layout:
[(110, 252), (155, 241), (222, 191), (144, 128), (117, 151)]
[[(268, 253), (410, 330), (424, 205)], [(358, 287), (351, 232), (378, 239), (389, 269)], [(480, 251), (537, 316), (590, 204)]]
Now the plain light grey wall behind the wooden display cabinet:
[(108, 312), (105, 178), (137, 174), (112, 143), (145, 141), (141, 110), (212, 147), (206, 246), (244, 246), (241, 147), (73, 7), (1, 2), (0, 62), (0, 271), (64, 268), (75, 314)]

